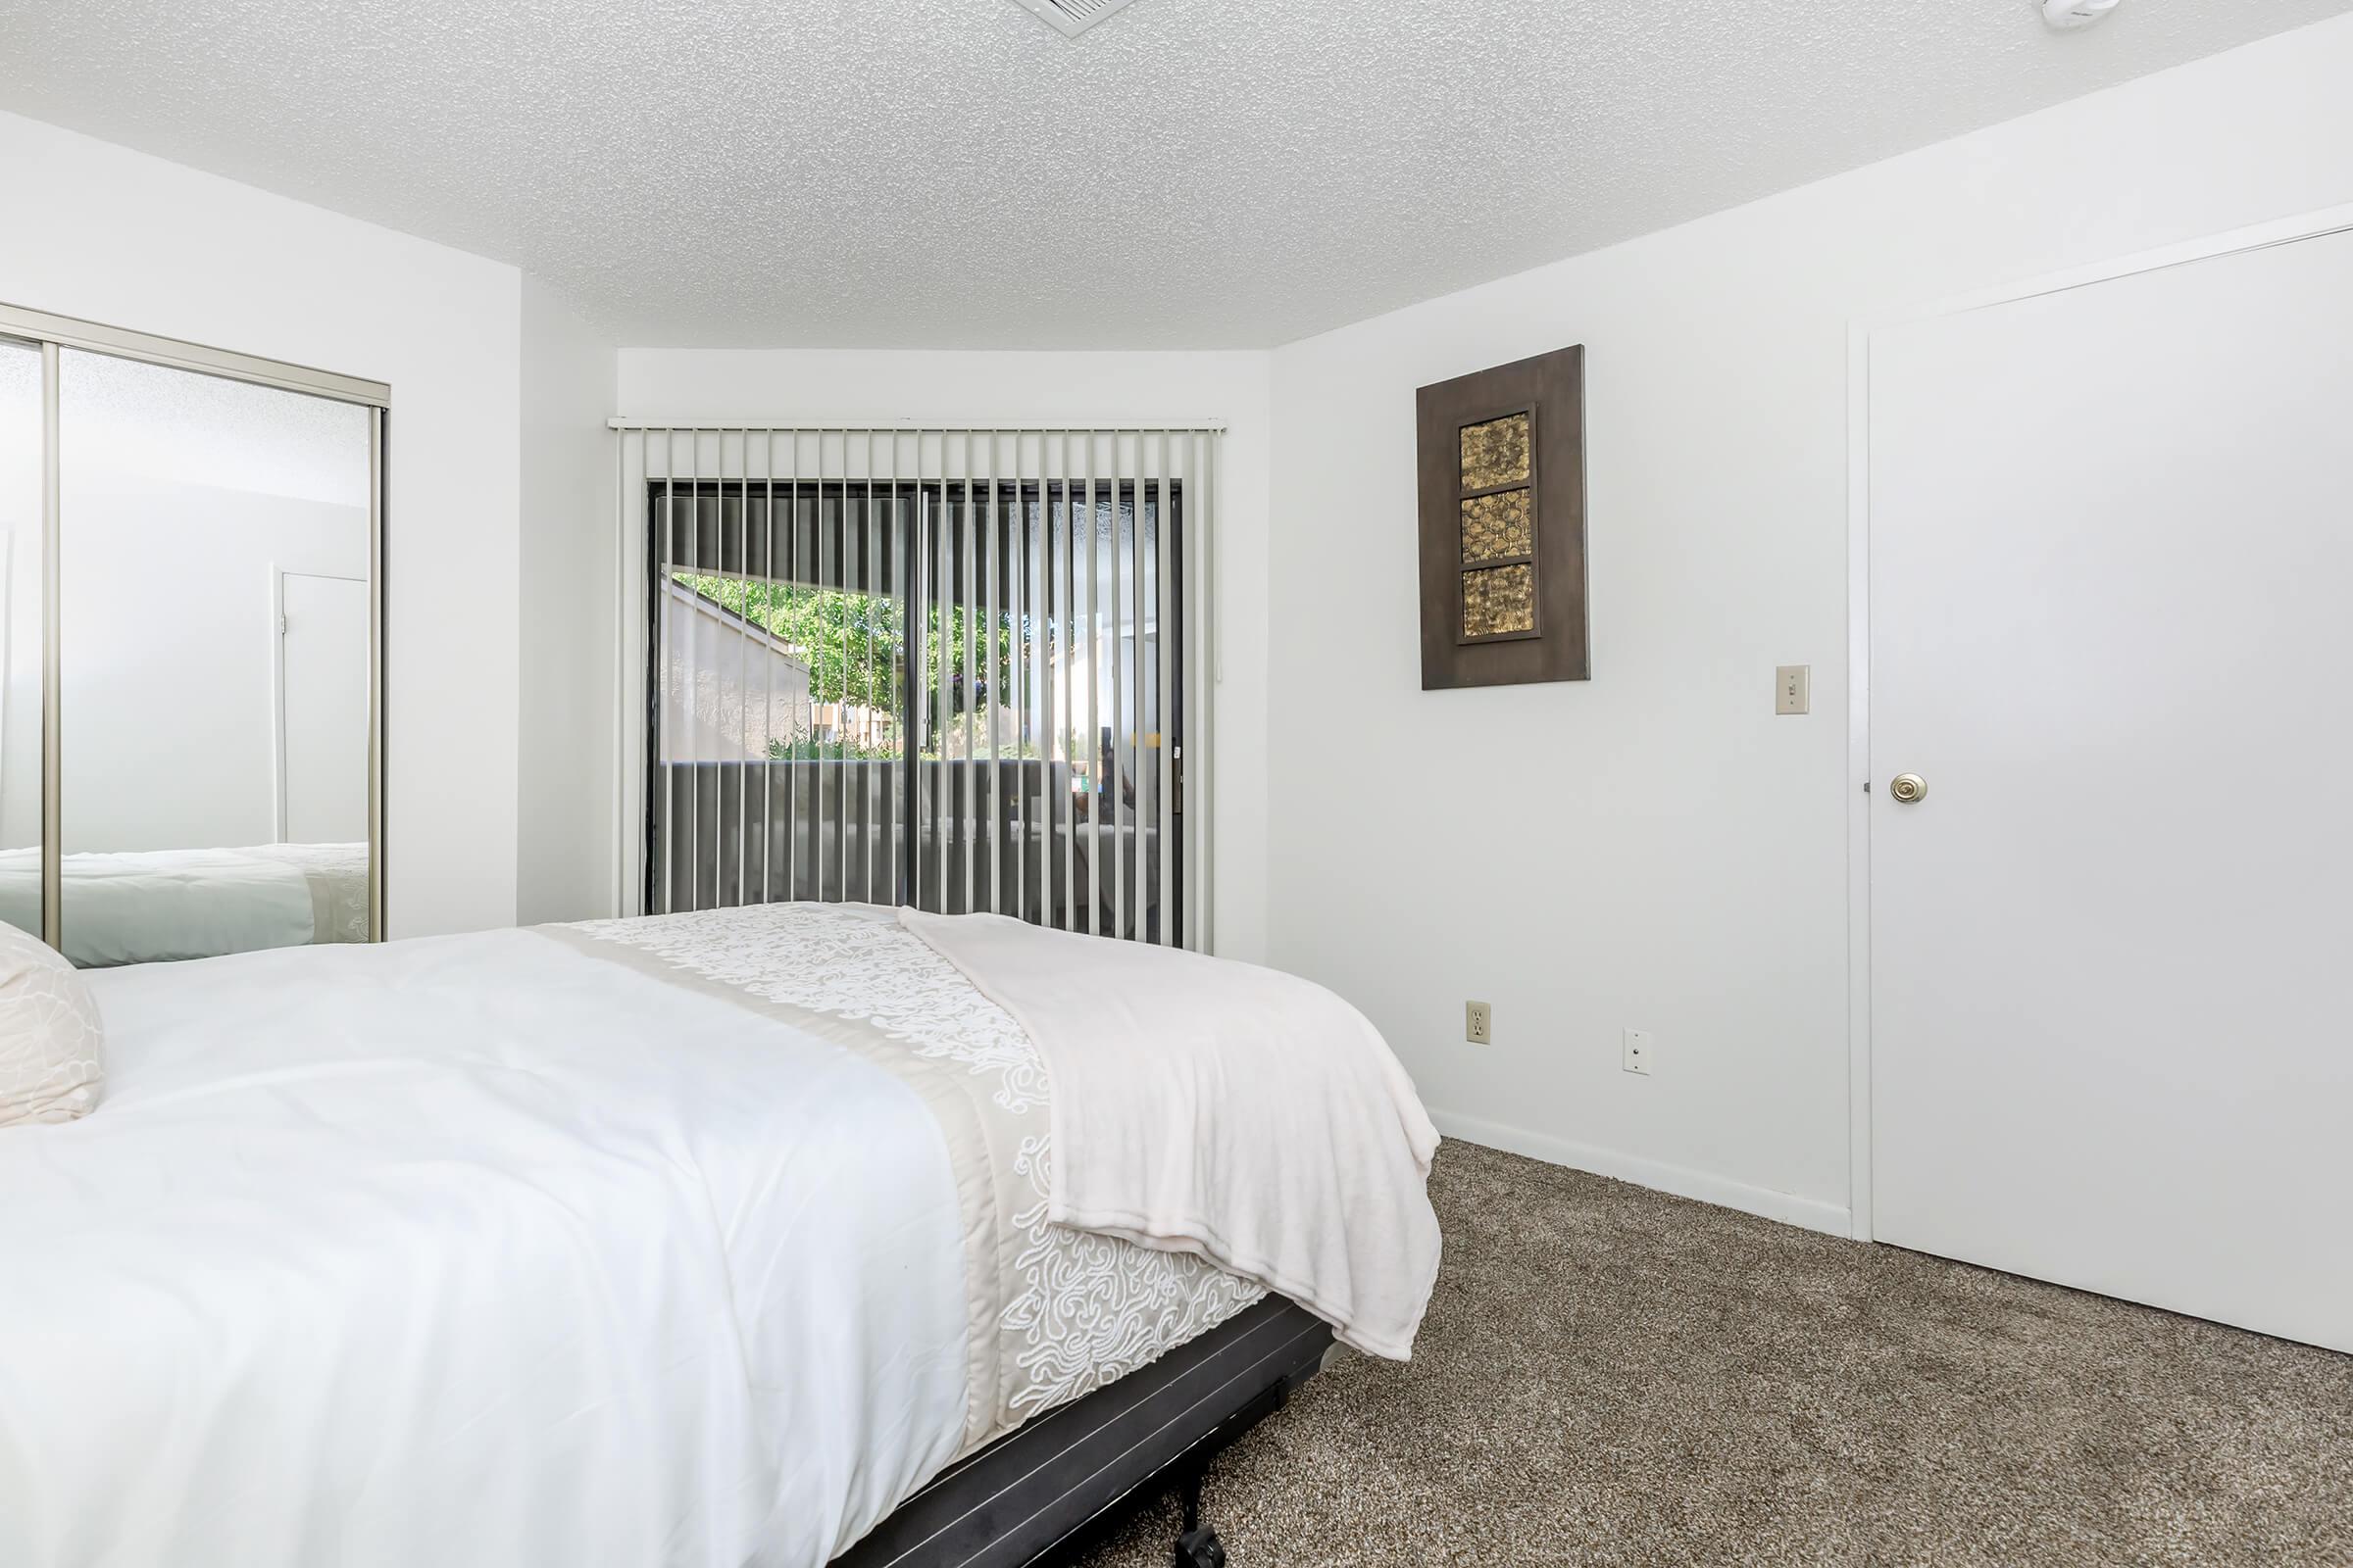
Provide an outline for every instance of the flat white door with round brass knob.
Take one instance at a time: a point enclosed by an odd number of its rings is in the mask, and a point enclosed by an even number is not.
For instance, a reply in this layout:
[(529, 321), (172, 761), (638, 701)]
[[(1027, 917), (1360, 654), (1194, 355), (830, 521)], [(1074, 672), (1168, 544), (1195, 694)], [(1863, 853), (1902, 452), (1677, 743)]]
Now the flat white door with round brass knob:
[(1868, 430), (1878, 1239), (2353, 1349), (2353, 235), (1878, 331)]

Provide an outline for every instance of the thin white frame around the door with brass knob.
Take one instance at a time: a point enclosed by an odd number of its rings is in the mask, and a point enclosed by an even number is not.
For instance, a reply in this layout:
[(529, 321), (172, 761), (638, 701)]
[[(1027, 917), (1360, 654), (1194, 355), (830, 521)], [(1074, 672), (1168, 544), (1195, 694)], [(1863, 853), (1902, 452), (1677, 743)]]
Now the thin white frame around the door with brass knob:
[(1847, 1213), (1857, 1241), (1871, 1218), (1871, 339), (1892, 327), (2064, 294), (2139, 273), (2353, 230), (2353, 202), (2231, 228), (2113, 261), (1906, 306), (1847, 324)]

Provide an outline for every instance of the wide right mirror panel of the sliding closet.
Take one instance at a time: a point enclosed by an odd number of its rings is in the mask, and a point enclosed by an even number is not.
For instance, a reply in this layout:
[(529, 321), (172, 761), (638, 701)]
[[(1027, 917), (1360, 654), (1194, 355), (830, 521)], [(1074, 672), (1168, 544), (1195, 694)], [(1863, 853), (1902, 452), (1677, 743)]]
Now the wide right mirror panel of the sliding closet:
[(369, 411), (68, 348), (59, 433), (66, 954), (367, 940)]

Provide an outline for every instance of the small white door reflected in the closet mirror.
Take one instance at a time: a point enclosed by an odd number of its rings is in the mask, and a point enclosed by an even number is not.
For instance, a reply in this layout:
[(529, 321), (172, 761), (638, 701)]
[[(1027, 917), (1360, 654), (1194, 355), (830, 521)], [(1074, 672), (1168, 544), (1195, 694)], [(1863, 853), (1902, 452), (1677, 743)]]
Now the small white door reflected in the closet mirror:
[(367, 839), (367, 583), (287, 571), (280, 658), (280, 837)]

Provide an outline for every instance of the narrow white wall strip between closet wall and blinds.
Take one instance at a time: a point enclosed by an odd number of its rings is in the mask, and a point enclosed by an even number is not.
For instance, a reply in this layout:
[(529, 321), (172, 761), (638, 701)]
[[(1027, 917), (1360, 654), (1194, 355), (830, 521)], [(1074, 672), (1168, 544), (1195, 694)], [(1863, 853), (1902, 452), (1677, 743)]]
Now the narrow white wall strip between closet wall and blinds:
[(614, 346), (522, 280), (515, 919), (612, 912)]

